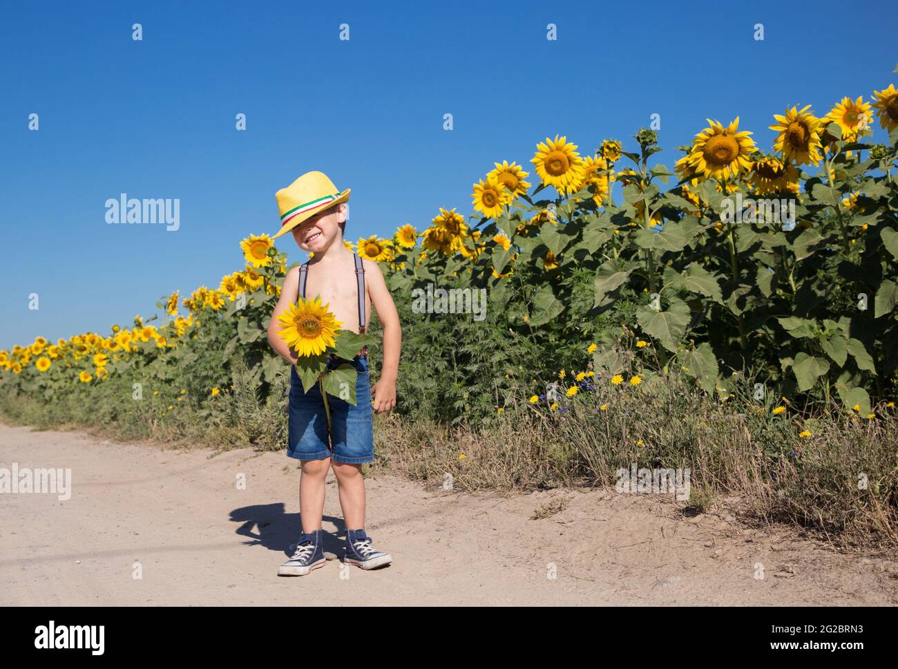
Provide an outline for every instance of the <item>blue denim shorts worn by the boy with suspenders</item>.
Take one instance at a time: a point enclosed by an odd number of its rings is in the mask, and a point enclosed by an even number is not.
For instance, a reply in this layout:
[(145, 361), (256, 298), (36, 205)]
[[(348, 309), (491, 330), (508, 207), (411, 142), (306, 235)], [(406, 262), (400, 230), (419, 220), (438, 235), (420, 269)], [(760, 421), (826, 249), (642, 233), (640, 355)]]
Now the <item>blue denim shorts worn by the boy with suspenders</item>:
[(356, 406), (328, 395), (330, 406), (330, 443), (328, 417), (324, 412), (321, 385), (315, 383), (303, 392), (303, 382), (291, 367), (290, 415), (286, 454), (297, 460), (323, 460), (359, 464), (374, 460), (374, 431), (371, 412), (371, 377), (368, 358), (353, 360), (331, 358), (330, 369), (350, 364), (356, 367)]

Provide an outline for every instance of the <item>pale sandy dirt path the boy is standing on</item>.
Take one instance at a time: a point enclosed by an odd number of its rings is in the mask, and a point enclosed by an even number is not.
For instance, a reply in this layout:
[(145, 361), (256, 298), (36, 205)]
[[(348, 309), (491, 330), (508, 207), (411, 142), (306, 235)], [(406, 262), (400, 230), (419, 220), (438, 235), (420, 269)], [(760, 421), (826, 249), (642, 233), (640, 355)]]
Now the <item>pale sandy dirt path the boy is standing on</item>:
[[(299, 532), (295, 461), (209, 454), (0, 425), (0, 467), (69, 467), (73, 478), (67, 501), (0, 494), (0, 604), (898, 603), (894, 562), (717, 515), (683, 518), (659, 497), (506, 498), (383, 475), (367, 480), (366, 529), (392, 566), (364, 572), (335, 560), (308, 577), (277, 577)], [(567, 509), (530, 520), (558, 495)], [(342, 557), (332, 472), (324, 515), (325, 550)]]

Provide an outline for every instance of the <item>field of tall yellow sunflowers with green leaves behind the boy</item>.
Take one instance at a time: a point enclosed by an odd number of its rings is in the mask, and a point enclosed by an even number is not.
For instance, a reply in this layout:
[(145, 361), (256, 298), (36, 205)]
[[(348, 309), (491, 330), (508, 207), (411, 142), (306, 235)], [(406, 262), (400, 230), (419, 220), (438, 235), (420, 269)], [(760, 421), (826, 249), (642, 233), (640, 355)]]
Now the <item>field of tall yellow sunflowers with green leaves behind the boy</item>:
[[(759, 397), (874, 418), (898, 381), (898, 91), (772, 120), (763, 149), (738, 118), (709, 119), (672, 164), (652, 130), (585, 155), (547, 137), (533, 177), (503, 161), (473, 184), (471, 216), (441, 207), (421, 229), (345, 242), (382, 263), (401, 312), (399, 410), (553, 411), (599, 383), (651, 394), (677, 374), (721, 401), (751, 378)], [(286, 256), (267, 235), (241, 247), (242, 269), (163, 295), (157, 315), (0, 351), (0, 390), (52, 402), (119, 377), (157, 398), (158, 420), (188, 398), (214, 411), (239, 367), (264, 400), (285, 379), (266, 330)], [(488, 317), (413, 312), (428, 285), (485, 289)]]

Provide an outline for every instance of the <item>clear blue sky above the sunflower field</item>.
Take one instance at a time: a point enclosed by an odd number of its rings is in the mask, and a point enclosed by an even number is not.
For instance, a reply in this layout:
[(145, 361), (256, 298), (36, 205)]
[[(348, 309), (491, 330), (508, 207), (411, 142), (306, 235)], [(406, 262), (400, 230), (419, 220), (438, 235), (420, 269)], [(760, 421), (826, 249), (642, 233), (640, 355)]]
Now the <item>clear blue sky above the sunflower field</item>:
[[(658, 113), (670, 165), (706, 118), (738, 115), (770, 148), (773, 113), (898, 82), (896, 18), (879, 0), (5, 4), (0, 348), (105, 332), (174, 289), (217, 286), (242, 267), (241, 239), (277, 231), (275, 191), (309, 170), (352, 189), (356, 240), (420, 229), (437, 207), (467, 216), (495, 161), (535, 177), (546, 136), (632, 150)], [(120, 193), (179, 198), (180, 229), (106, 224)]]

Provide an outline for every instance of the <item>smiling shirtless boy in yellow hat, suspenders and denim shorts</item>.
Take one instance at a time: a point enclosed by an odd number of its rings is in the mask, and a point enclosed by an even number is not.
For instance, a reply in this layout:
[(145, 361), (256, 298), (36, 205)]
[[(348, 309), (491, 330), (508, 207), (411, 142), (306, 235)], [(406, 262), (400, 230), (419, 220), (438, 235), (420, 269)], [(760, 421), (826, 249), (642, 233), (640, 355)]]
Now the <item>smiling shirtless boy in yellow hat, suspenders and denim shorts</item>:
[[(370, 306), (383, 325), (383, 369), (374, 388), (370, 387), (367, 351), (355, 359), (332, 358), (329, 365), (349, 362), (356, 367), (356, 406), (330, 396), (330, 436), (328, 419), (318, 384), (304, 392), (303, 383), (291, 366), (289, 444), (287, 455), (302, 461), (299, 482), (300, 517), (303, 533), (295, 552), (277, 570), (278, 576), (304, 576), (323, 567), (321, 514), (324, 510), (324, 479), (333, 467), (339, 487), (339, 503), (346, 521), (347, 542), (344, 562), (363, 569), (389, 564), (389, 554), (376, 550), (365, 534), (365, 480), (362, 463), (374, 460), (372, 409), (378, 413), (396, 406), (396, 374), (402, 332), (399, 314), (380, 268), (372, 260), (361, 260), (343, 243), (349, 189), (342, 193), (321, 172), (306, 172), (286, 189), (275, 194), (281, 214), (281, 229), (274, 235), (291, 232), (312, 260), (287, 272), (280, 299), (269, 324), (269, 344), (290, 365), (296, 353), (277, 332), (277, 316), (298, 297), (330, 304), (330, 312), (345, 330), (365, 332)], [(372, 398), (374, 398), (372, 400)]]

